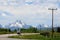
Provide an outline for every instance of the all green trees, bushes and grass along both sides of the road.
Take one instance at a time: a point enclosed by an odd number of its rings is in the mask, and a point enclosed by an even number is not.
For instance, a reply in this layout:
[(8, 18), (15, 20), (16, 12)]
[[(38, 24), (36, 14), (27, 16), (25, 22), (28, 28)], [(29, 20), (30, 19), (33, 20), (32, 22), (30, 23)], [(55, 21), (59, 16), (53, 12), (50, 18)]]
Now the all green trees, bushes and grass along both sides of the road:
[[(60, 40), (60, 27), (57, 30), (54, 30), (54, 37), (51, 37), (51, 31), (46, 30), (38, 30), (37, 28), (30, 27), (28, 29), (22, 28), (20, 30), (21, 33), (39, 33), (34, 35), (16, 35), (9, 36), (9, 38), (19, 38), (19, 39), (37, 39), (37, 40)], [(11, 31), (10, 29), (0, 28), (0, 34), (10, 34), (17, 33), (17, 30)]]

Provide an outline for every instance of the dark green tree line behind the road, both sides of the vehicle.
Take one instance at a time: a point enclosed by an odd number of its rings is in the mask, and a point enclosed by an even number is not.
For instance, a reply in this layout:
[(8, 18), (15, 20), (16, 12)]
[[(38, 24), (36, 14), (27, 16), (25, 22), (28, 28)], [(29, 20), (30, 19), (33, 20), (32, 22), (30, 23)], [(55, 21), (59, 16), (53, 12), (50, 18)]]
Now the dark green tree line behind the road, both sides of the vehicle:
[[(21, 28), (20, 30), (21, 33), (39, 33), (37, 28), (30, 27), (28, 29)], [(12, 33), (17, 33), (17, 30), (10, 30), (10, 29), (5, 29), (5, 28), (0, 28), (0, 34), (12, 34)]]

